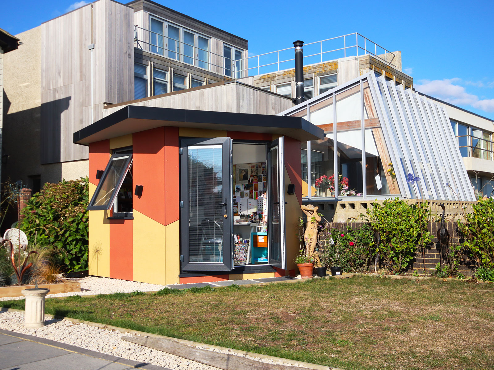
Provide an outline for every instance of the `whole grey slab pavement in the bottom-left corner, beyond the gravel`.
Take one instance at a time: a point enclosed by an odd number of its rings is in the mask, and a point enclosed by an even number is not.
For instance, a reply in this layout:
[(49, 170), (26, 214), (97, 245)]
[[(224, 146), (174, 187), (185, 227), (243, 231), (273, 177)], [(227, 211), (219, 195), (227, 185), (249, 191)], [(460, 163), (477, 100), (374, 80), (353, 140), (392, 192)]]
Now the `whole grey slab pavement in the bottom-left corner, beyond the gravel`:
[(0, 329), (0, 370), (164, 370), (37, 336)]

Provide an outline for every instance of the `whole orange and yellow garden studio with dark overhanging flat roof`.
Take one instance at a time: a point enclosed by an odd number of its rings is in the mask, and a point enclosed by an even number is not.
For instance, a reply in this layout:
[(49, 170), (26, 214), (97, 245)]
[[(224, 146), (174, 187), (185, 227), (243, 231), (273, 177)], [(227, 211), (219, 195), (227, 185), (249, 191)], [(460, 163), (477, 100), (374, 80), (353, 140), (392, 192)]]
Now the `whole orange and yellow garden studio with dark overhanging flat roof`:
[(76, 132), (89, 147), (89, 274), (162, 285), (287, 275), (301, 142), (324, 138), (301, 117), (139, 106)]

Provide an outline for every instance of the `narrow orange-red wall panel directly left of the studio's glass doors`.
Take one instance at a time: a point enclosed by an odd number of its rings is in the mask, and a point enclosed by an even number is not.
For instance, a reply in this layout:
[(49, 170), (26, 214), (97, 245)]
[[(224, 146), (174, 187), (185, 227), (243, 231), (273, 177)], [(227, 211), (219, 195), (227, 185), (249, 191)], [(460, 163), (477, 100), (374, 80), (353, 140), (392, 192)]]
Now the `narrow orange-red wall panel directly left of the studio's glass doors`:
[(179, 218), (178, 127), (165, 127), (165, 224)]

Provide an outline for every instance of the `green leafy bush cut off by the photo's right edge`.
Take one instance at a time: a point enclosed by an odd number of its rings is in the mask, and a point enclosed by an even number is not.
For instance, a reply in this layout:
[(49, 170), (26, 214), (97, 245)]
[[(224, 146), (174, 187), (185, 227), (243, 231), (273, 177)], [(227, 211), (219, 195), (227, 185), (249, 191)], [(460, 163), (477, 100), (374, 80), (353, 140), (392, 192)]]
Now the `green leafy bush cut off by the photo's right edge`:
[(465, 222), (458, 221), (465, 236), (463, 246), (479, 259), (480, 267), (494, 268), (494, 200), (479, 200), (465, 218)]

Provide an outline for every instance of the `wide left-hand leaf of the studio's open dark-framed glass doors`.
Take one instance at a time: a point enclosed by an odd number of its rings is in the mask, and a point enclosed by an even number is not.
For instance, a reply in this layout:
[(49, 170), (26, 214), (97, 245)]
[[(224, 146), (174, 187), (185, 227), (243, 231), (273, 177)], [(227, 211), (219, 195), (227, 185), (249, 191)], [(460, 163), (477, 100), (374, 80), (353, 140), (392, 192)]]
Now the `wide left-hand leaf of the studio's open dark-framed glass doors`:
[(230, 138), (181, 141), (183, 271), (230, 271), (233, 267), (231, 146)]

